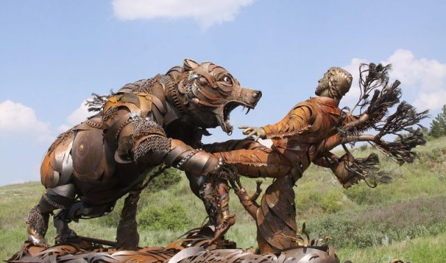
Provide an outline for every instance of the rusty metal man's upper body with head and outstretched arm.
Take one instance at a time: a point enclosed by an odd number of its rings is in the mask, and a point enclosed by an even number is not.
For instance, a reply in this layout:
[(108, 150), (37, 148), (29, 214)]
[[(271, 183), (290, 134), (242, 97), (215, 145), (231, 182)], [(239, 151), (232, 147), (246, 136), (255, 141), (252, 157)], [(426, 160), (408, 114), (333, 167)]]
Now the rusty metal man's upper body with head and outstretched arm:
[[(351, 87), (352, 76), (342, 68), (332, 67), (318, 81), (316, 95), (295, 105), (286, 117), (278, 123), (261, 128), (241, 126), (243, 134), (271, 139), (273, 148), (284, 154), (291, 163), (299, 164), (302, 172), (312, 163), (314, 157), (310, 149), (337, 133), (337, 127), (353, 121), (344, 117), (339, 109), (339, 101)], [(314, 154), (314, 153), (313, 153)]]

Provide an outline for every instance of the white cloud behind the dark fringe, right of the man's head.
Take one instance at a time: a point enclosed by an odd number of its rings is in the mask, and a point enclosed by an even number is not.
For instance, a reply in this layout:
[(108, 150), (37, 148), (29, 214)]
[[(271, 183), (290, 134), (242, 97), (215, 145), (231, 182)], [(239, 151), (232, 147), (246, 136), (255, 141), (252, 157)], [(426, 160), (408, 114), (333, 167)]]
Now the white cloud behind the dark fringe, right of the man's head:
[[(357, 84), (360, 63), (368, 63), (367, 59), (354, 58), (344, 66), (353, 75), (353, 85), (343, 104), (348, 106), (357, 102), (360, 90)], [(446, 64), (435, 59), (416, 59), (409, 50), (396, 50), (390, 57), (380, 63), (392, 63), (390, 77), (401, 81), (403, 93), (413, 93), (415, 100), (411, 102), (420, 110), (438, 110), (446, 103)]]

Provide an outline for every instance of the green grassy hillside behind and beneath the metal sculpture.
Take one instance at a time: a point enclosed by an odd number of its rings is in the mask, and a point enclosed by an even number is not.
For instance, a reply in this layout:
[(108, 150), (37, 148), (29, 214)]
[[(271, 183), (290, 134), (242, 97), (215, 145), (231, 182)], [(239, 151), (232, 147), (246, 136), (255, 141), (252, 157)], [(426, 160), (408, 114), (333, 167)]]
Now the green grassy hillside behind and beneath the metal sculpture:
[[(353, 151), (367, 156), (371, 149)], [(369, 188), (364, 182), (346, 190), (329, 170), (310, 167), (295, 187), (298, 224), (306, 223), (312, 237), (328, 235), (341, 260), (390, 262), (445, 262), (446, 259), (446, 137), (417, 148), (414, 163), (399, 166), (380, 155), (382, 169), (394, 175), (388, 185)], [(254, 180), (244, 179), (249, 190)], [(266, 188), (268, 181), (264, 183)], [(40, 183), (0, 187), (0, 260), (13, 255), (26, 239), (26, 213), (43, 192)], [(231, 194), (236, 214), (227, 238), (240, 248), (256, 246), (254, 221)], [(71, 223), (84, 236), (114, 240), (122, 207), (120, 200), (109, 215)], [(167, 190), (146, 190), (139, 201), (141, 246), (163, 246), (205, 220), (201, 201), (189, 189), (185, 176)], [(47, 239), (54, 238), (49, 223)]]

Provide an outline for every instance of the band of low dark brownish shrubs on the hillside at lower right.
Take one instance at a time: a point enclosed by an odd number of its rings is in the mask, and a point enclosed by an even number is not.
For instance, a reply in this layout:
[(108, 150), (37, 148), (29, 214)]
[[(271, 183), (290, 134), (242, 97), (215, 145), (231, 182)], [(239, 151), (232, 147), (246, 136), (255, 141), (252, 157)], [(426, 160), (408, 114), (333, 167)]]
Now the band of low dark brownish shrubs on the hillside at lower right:
[(336, 248), (365, 248), (446, 232), (444, 197), (332, 213), (307, 222), (312, 238), (328, 235)]

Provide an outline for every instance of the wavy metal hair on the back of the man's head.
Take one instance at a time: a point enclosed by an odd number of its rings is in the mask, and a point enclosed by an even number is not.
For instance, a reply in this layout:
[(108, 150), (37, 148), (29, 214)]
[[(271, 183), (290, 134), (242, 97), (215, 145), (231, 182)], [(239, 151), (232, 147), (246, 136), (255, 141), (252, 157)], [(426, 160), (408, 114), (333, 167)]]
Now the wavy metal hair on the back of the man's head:
[(327, 71), (328, 92), (332, 98), (341, 98), (351, 87), (353, 77), (347, 70), (332, 67)]

